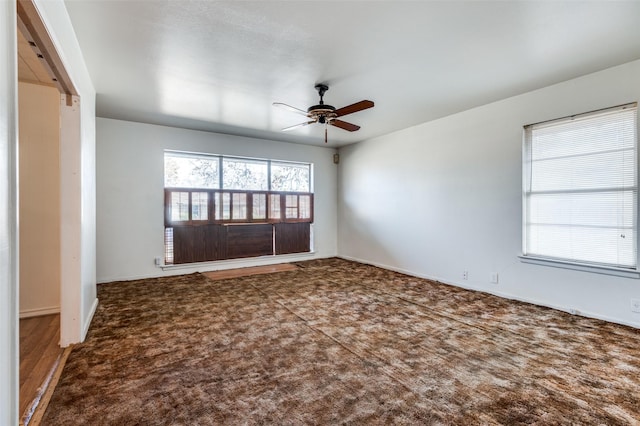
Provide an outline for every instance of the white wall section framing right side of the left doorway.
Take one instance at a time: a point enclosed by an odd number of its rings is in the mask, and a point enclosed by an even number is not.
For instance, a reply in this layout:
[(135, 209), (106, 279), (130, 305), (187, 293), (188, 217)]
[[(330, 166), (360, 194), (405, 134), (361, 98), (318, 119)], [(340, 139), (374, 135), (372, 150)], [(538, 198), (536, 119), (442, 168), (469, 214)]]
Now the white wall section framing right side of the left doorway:
[[(95, 89), (62, 0), (34, 1), (79, 99), (61, 104), (60, 344), (84, 340), (96, 299)], [(15, 19), (15, 17), (14, 17)]]

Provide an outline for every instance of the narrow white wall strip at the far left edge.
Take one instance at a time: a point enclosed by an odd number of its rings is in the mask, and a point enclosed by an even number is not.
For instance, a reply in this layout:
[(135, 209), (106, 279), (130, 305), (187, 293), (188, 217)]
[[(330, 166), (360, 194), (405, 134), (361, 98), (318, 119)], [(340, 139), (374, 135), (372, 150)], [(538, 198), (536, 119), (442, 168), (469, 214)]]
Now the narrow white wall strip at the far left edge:
[(16, 2), (0, 2), (0, 425), (18, 423)]

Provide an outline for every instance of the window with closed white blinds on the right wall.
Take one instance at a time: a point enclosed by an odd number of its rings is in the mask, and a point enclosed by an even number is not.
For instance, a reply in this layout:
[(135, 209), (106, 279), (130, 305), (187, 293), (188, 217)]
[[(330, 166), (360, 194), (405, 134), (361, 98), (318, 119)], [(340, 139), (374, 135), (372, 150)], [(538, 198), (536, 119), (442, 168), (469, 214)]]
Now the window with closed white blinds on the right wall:
[(636, 268), (636, 110), (525, 126), (524, 256)]

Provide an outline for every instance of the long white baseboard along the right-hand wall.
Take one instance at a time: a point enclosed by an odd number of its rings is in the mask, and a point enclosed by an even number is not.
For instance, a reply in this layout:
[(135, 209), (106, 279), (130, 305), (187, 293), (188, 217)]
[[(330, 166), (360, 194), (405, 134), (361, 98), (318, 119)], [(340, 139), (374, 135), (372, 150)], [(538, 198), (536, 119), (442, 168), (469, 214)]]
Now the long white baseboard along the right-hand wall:
[(409, 271), (407, 269), (402, 269), (402, 268), (396, 268), (394, 266), (385, 265), (383, 263), (371, 262), (371, 261), (368, 261), (368, 260), (358, 259), (358, 258), (351, 257), (351, 256), (339, 255), (338, 257), (341, 258), (341, 259), (345, 259), (345, 260), (351, 260), (351, 261), (358, 262), (358, 263), (364, 263), (365, 265), (377, 266), (378, 268), (388, 269), (390, 271), (399, 272), (401, 274), (410, 275), (412, 277), (424, 278), (424, 279), (427, 279), (427, 280), (437, 281), (437, 282), (440, 282), (440, 283), (443, 283), (443, 284), (464, 288), (465, 290), (480, 291), (480, 292), (483, 292), (483, 293), (492, 294), (494, 296), (502, 297), (503, 299), (516, 300), (518, 302), (524, 302), (524, 303), (531, 303), (532, 305), (544, 306), (545, 308), (551, 308), (551, 309), (555, 309), (557, 311), (567, 312), (567, 313), (570, 313), (572, 315), (580, 315), (580, 316), (587, 317), (587, 318), (599, 319), (599, 320), (602, 320), (602, 321), (607, 321), (607, 322), (612, 322), (612, 323), (615, 323), (615, 324), (626, 325), (626, 326), (633, 327), (633, 328), (640, 328), (640, 323), (638, 323), (638, 322), (625, 321), (625, 320), (621, 320), (619, 318), (612, 318), (612, 317), (609, 317), (609, 316), (606, 316), (606, 315), (602, 315), (602, 314), (598, 314), (598, 313), (594, 313), (594, 312), (585, 312), (585, 311), (582, 311), (582, 310), (579, 311), (579, 312), (573, 312), (571, 308), (568, 308), (568, 307), (565, 307), (565, 306), (554, 305), (554, 304), (550, 304), (548, 302), (542, 302), (542, 301), (535, 300), (535, 299), (528, 299), (526, 297), (520, 297), (520, 296), (516, 296), (516, 295), (510, 294), (510, 293), (505, 293), (505, 292), (501, 292), (501, 291), (488, 290), (488, 289), (485, 289), (485, 288), (478, 288), (478, 287), (474, 287), (472, 285), (469, 285), (467, 283), (446, 280), (446, 279), (443, 279), (443, 278), (440, 278), (440, 277), (436, 277), (436, 276), (431, 276), (431, 275), (419, 274), (419, 273), (414, 272), (414, 271)]

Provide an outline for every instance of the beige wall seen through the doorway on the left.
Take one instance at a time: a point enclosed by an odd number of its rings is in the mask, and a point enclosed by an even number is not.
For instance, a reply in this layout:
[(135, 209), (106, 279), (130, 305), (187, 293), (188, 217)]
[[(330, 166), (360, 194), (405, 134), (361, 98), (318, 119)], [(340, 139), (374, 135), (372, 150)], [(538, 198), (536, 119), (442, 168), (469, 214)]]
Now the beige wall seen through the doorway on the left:
[(18, 84), (20, 317), (60, 312), (60, 92)]

